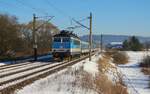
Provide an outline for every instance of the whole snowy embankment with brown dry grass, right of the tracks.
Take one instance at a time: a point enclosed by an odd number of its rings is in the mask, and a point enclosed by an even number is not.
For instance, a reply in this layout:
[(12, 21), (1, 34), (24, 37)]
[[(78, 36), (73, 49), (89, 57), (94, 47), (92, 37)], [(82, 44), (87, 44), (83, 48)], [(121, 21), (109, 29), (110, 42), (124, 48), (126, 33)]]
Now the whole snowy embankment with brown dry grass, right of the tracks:
[(104, 54), (96, 54), (92, 61), (82, 60), (16, 91), (16, 94), (128, 94), (110, 61), (111, 58)]

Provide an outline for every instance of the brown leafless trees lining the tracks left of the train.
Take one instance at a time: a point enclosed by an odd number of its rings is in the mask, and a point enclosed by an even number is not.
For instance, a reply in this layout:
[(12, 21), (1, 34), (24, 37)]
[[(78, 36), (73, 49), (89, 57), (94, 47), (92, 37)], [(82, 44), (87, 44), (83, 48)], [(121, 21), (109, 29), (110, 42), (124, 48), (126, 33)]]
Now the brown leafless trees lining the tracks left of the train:
[[(36, 31), (38, 54), (51, 50), (52, 36), (59, 32), (55, 25), (45, 22), (44, 20), (36, 22), (36, 27), (40, 26)], [(0, 59), (8, 56), (32, 55), (32, 48), (32, 21), (22, 24), (18, 22), (16, 16), (0, 14)]]

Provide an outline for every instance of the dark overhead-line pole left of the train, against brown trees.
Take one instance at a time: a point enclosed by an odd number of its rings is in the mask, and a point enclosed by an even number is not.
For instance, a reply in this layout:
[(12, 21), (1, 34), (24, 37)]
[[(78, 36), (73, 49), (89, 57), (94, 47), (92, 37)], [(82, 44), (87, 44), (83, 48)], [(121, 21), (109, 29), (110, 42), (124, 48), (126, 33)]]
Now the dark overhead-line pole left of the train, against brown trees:
[(37, 36), (36, 36), (36, 15), (33, 14), (33, 50), (34, 50), (34, 61), (37, 60)]

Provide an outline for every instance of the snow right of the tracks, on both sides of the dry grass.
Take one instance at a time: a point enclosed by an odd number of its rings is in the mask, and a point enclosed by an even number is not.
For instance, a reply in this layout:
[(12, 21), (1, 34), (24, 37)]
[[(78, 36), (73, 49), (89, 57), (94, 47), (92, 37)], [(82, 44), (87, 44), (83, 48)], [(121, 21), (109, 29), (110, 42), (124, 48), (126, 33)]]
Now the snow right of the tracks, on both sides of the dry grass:
[[(143, 57), (147, 54), (150, 55), (150, 52), (128, 51), (127, 54), (129, 63), (118, 65), (118, 69), (124, 74), (123, 81), (127, 85), (129, 94), (150, 94), (150, 76), (144, 75), (138, 66)], [(83, 74), (82, 71), (86, 71), (91, 74), (90, 76), (93, 75), (92, 77), (94, 77), (98, 73), (96, 62), (99, 58), (101, 56), (95, 55), (90, 62), (88, 59), (83, 60), (60, 72), (35, 81), (21, 90), (17, 90), (16, 94), (97, 94), (93, 89), (84, 86), (82, 75), (80, 74)], [(112, 63), (112, 60), (110, 63)], [(109, 73), (108, 77), (111, 78), (111, 73)]]

